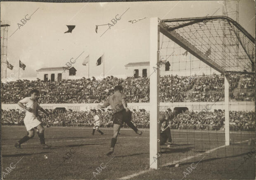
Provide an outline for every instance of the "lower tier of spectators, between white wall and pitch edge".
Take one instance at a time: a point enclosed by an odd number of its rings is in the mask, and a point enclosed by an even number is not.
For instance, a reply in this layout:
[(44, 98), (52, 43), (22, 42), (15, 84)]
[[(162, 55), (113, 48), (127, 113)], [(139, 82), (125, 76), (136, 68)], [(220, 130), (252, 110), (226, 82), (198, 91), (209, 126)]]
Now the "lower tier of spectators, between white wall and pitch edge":
[[(43, 113), (39, 115), (44, 125), (51, 126), (92, 126), (93, 117), (91, 111), (71, 111), (71, 110), (47, 110), (50, 115)], [(2, 125), (24, 125), (23, 119), (25, 111), (2, 110)], [(161, 111), (168, 120), (171, 129), (207, 129), (223, 130), (225, 114), (224, 111), (185, 111), (176, 114), (172, 111)], [(111, 119), (112, 111), (98, 110), (102, 120), (102, 126), (108, 127), (107, 122)], [(138, 128), (149, 128), (149, 111), (144, 109), (132, 111), (132, 121)], [(124, 124), (126, 127), (126, 124)], [(230, 111), (230, 130), (253, 131), (255, 127), (255, 113), (253, 111)]]

